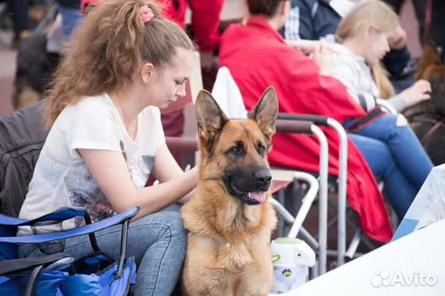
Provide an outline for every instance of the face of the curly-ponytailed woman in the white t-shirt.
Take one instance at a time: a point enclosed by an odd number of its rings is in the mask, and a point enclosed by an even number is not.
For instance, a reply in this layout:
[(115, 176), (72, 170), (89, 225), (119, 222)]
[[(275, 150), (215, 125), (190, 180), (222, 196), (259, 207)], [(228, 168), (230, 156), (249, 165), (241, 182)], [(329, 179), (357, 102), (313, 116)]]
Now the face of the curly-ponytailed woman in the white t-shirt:
[(186, 95), (186, 82), (190, 77), (192, 61), (193, 52), (179, 48), (172, 59), (172, 65), (154, 68), (154, 77), (147, 84), (150, 105), (165, 108)]

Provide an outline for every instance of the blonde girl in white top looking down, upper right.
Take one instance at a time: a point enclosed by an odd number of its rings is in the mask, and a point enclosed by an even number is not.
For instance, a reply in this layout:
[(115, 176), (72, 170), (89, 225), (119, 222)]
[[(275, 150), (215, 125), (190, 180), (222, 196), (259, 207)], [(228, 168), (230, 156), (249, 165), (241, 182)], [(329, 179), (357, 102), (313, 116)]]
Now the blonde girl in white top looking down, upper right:
[(389, 43), (399, 31), (401, 25), (394, 10), (377, 0), (358, 3), (339, 24), (338, 43), (331, 45), (337, 56), (332, 60), (330, 75), (339, 79), (367, 111), (375, 107), (375, 98), (388, 99), (397, 111), (430, 99), (431, 86), (426, 80), (394, 95), (380, 67), (389, 52)]

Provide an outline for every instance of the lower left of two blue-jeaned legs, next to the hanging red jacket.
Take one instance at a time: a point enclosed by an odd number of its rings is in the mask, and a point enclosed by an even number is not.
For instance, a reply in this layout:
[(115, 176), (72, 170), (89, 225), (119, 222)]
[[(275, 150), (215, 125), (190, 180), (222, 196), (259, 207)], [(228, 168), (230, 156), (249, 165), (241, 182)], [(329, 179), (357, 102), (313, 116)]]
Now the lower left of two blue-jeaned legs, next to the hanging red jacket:
[(403, 219), (418, 190), (401, 172), (385, 143), (358, 134), (348, 134), (348, 137), (360, 150), (374, 176), (385, 182), (389, 201), (398, 218)]

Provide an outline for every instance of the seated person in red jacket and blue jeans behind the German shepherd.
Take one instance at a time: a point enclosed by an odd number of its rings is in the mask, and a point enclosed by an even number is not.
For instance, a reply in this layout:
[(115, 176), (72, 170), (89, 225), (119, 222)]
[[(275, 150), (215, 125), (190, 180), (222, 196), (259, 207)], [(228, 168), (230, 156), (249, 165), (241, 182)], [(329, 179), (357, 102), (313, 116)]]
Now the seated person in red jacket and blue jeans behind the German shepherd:
[[(271, 85), (277, 90), (281, 112), (320, 114), (341, 123), (366, 118), (366, 111), (348, 95), (345, 86), (337, 79), (320, 74), (326, 72), (324, 66), (319, 68), (312, 59), (286, 45), (278, 30), (286, 20), (289, 7), (289, 1), (284, 0), (248, 0), (250, 17), (243, 24), (227, 29), (221, 39), (220, 65), (229, 68), (246, 107), (251, 109)], [(320, 54), (316, 52), (314, 57), (318, 60)], [(372, 158), (380, 162), (380, 157), (387, 157), (382, 165), (387, 166), (390, 173), (376, 175), (394, 189), (390, 196), (399, 217), (403, 217), (432, 164), (410, 127), (396, 125), (396, 116), (380, 114), (368, 126), (375, 134), (367, 134), (366, 139), (381, 143), (386, 149), (385, 155), (376, 152), (368, 159), (349, 141), (348, 203), (357, 211), (364, 231), (375, 240), (386, 242), (392, 232), (371, 171)], [(337, 174), (337, 136), (332, 130), (327, 129), (325, 133), (330, 143), (330, 173)], [(316, 172), (318, 147), (317, 141), (309, 137), (277, 134), (268, 158), (273, 166)], [(408, 179), (411, 175), (416, 175), (416, 182)]]

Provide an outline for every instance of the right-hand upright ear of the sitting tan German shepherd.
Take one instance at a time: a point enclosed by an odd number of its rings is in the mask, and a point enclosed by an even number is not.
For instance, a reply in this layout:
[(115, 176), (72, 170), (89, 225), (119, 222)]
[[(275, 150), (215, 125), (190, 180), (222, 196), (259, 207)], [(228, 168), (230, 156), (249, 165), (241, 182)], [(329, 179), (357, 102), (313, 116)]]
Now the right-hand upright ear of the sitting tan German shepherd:
[(270, 146), (270, 139), (275, 134), (275, 121), (278, 115), (278, 99), (275, 88), (269, 86), (259, 100), (257, 106), (254, 107), (250, 114), (250, 119), (255, 120), (261, 132), (268, 141)]

